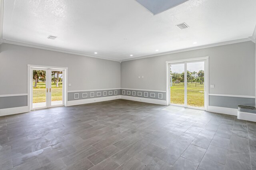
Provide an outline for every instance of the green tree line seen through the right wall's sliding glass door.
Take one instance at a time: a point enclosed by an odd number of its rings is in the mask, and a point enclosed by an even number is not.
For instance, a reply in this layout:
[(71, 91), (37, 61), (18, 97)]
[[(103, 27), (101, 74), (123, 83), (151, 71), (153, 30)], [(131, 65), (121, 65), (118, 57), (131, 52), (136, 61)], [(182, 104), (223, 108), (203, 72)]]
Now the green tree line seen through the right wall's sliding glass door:
[[(184, 83), (184, 72), (182, 73), (172, 73), (172, 82), (182, 82)], [(200, 83), (204, 82), (204, 70), (196, 71), (187, 71), (187, 83)]]

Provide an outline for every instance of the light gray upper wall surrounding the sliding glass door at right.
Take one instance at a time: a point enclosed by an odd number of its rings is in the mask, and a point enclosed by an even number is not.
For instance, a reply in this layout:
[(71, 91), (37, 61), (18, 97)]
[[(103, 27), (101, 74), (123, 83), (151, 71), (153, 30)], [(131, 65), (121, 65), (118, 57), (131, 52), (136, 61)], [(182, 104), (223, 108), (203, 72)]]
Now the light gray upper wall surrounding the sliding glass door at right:
[[(209, 56), (209, 84), (215, 85), (215, 88), (209, 89), (209, 93), (255, 95), (255, 44), (253, 42), (123, 61), (121, 88), (166, 91), (166, 61), (205, 56)], [(141, 77), (142, 75), (144, 78)]]

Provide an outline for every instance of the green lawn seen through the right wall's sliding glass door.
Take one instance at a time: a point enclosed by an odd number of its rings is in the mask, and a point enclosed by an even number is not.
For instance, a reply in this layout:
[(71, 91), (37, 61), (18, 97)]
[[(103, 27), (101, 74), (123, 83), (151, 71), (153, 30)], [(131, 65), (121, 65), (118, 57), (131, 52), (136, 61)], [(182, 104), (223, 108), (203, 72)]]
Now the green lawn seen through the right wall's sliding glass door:
[[(188, 105), (193, 107), (204, 107), (204, 84), (188, 83)], [(172, 83), (171, 103), (184, 105), (184, 83)]]

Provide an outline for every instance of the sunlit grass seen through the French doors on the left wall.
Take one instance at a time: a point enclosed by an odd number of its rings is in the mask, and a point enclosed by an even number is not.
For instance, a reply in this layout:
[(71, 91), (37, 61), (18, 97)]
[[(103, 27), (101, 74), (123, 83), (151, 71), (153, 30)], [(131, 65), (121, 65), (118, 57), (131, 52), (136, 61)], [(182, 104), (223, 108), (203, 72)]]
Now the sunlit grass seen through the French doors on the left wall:
[[(52, 82), (52, 101), (62, 101), (62, 82), (60, 83), (60, 86), (56, 87), (56, 83)], [(34, 88), (34, 84), (33, 82), (33, 103), (46, 102), (45, 83), (37, 83), (36, 88)]]

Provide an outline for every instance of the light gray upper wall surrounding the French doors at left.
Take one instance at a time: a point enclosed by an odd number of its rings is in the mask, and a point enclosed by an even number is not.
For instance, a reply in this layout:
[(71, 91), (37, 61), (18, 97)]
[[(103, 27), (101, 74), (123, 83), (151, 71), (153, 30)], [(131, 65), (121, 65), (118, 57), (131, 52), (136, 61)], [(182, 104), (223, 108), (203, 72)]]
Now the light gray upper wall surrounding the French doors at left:
[(120, 88), (120, 63), (20, 45), (0, 45), (0, 95), (27, 92), (28, 64), (68, 67), (68, 91)]

